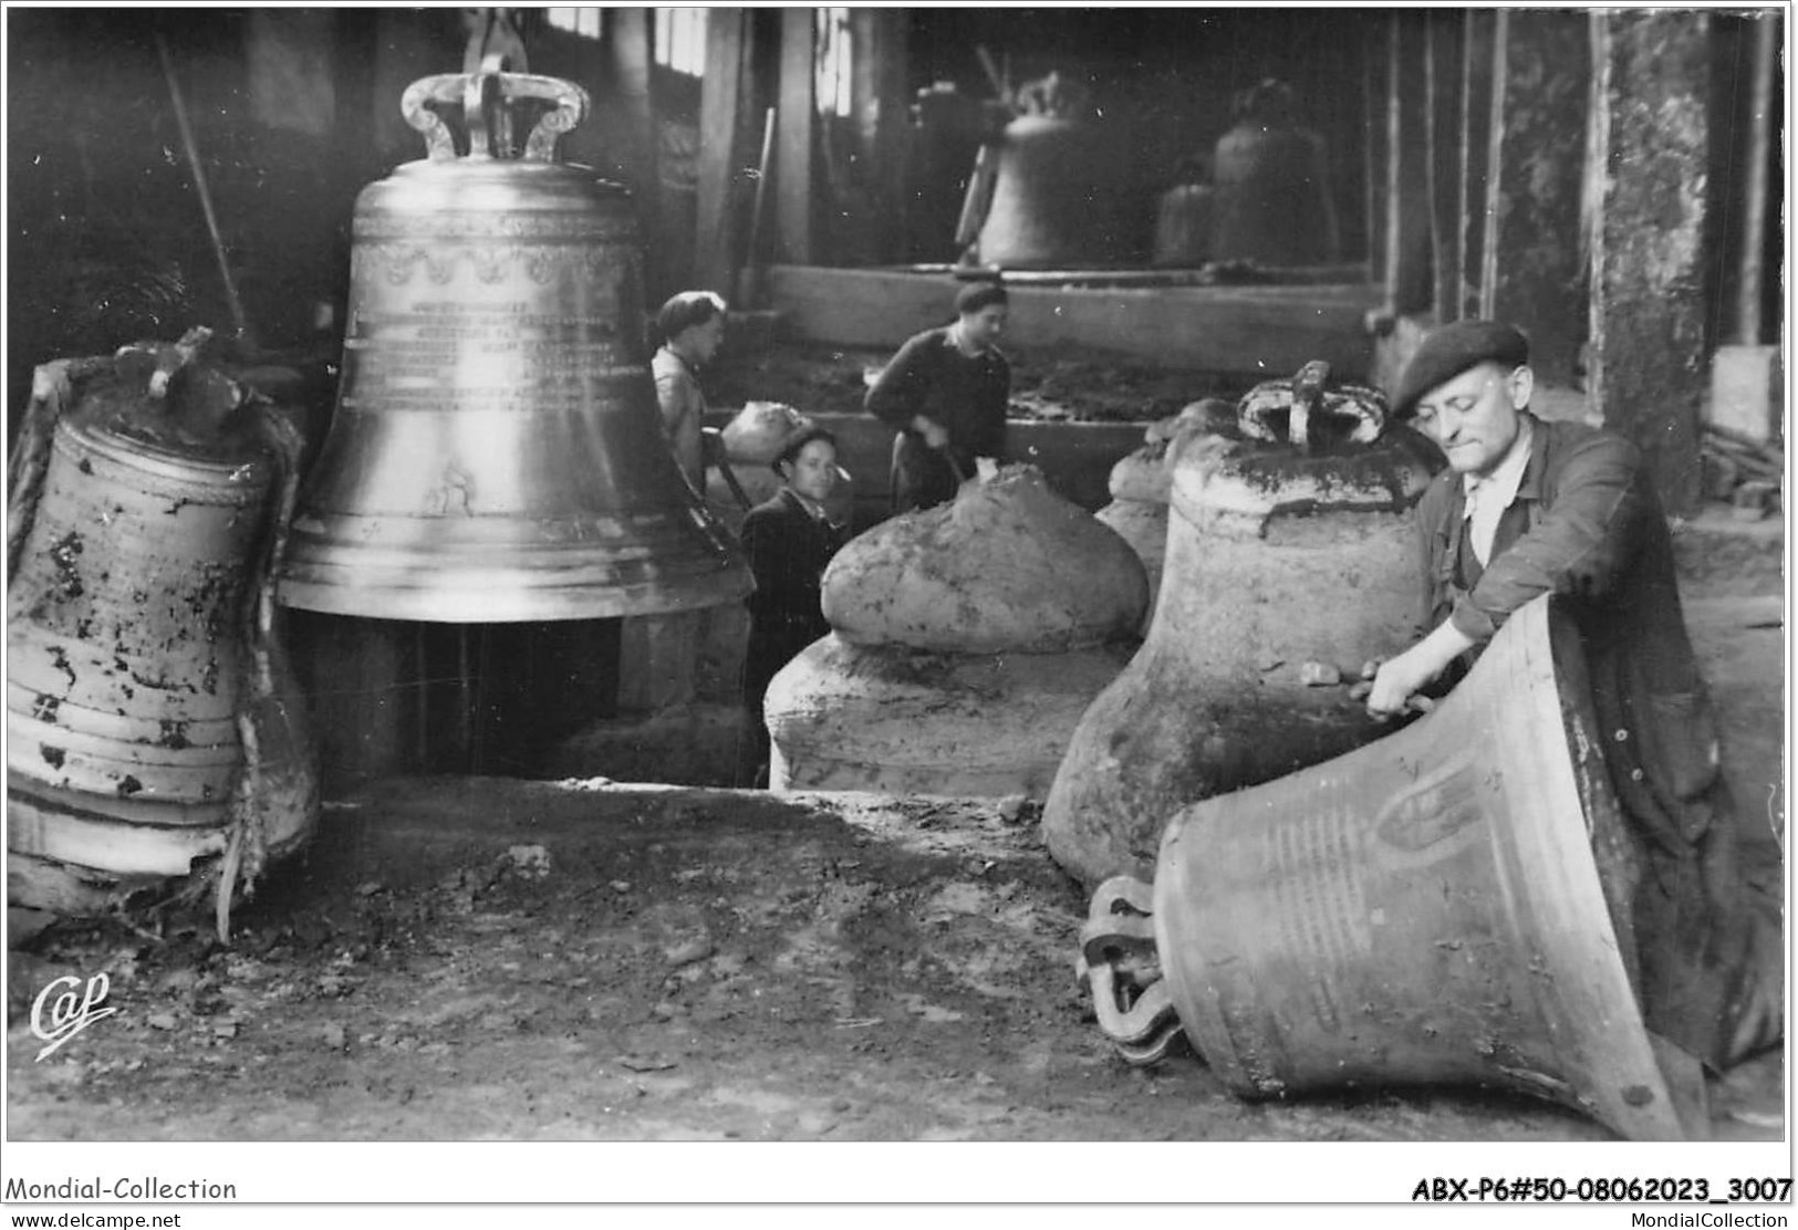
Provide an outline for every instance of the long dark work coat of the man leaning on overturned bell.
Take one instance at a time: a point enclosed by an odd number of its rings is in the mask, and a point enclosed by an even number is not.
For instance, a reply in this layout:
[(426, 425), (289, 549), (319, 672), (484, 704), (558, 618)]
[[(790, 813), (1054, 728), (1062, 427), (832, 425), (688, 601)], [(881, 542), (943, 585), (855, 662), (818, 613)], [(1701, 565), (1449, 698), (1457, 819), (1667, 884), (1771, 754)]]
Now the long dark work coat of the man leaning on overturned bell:
[(1462, 477), (1442, 471), (1424, 491), (1424, 629), (1449, 619), (1483, 647), (1530, 599), (1562, 597), (1584, 642), (1611, 784), (1643, 852), (1634, 928), (1647, 1025), (1722, 1066), (1731, 1021), (1753, 994), (1748, 922), (1672, 538), (1629, 441), (1530, 423), (1530, 460), (1485, 568), (1467, 541)]

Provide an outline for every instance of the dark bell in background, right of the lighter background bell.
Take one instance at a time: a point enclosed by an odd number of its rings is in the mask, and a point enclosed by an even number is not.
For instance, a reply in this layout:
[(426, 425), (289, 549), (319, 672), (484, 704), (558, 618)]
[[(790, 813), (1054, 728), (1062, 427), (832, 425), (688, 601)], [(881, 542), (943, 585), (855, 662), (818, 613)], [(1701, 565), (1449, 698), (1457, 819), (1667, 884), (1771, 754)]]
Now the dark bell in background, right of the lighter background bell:
[(1293, 88), (1268, 79), (1237, 95), (1235, 124), (1217, 138), (1214, 261), (1329, 264), (1338, 259), (1323, 138), (1300, 128)]

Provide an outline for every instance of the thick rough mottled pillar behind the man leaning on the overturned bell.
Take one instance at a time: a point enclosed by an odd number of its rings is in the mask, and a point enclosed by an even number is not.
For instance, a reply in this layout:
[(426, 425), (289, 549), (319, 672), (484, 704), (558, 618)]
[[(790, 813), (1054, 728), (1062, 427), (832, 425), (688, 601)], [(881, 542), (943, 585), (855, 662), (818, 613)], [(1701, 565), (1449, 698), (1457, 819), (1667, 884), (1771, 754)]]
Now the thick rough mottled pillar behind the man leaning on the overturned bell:
[[(1584, 18), (1580, 18), (1584, 22)], [(1703, 11), (1591, 14), (1598, 221), (1588, 381), (1604, 424), (1642, 448), (1670, 512), (1697, 505), (1705, 370)]]

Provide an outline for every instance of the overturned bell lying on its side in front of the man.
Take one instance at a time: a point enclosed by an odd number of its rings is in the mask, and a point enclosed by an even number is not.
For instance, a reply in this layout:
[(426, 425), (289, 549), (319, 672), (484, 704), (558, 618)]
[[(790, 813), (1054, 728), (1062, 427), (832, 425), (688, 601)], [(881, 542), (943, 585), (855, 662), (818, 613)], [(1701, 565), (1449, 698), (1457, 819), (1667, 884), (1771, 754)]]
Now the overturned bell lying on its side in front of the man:
[(1244, 1097), (1482, 1084), (1705, 1135), (1696, 1061), (1638, 1000), (1640, 874), (1579, 633), (1541, 597), (1431, 716), (1169, 822), (1167, 989), (1126, 1020), (1170, 1003)]

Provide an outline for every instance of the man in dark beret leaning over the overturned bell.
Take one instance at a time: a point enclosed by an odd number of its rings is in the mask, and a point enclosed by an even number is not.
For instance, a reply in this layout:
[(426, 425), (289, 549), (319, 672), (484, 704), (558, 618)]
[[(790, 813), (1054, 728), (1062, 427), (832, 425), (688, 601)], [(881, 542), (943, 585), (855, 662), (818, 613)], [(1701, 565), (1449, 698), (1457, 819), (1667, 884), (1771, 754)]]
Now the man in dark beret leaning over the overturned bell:
[(1429, 631), (1381, 665), (1368, 709), (1453, 683), (1543, 593), (1586, 647), (1606, 762), (1643, 852), (1634, 928), (1643, 1018), (1713, 1068), (1784, 1034), (1778, 906), (1737, 865), (1717, 725), (1687, 638), (1672, 539), (1625, 439), (1528, 412), (1523, 334), (1494, 320), (1431, 333), (1393, 415), (1447, 457), (1417, 505)]

